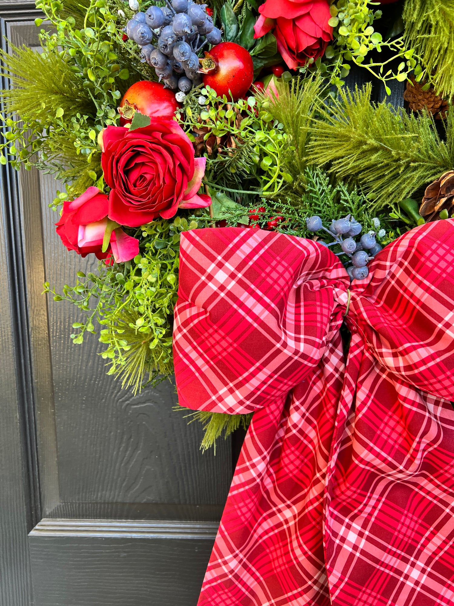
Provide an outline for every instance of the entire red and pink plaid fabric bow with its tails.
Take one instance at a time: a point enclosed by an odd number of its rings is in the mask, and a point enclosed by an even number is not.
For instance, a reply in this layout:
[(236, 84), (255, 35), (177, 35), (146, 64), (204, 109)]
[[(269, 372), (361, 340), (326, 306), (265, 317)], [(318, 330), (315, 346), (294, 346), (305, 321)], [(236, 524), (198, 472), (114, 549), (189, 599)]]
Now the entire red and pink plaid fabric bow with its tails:
[(454, 604), (454, 221), (354, 282), (313, 241), (187, 231), (180, 405), (254, 411), (199, 606)]

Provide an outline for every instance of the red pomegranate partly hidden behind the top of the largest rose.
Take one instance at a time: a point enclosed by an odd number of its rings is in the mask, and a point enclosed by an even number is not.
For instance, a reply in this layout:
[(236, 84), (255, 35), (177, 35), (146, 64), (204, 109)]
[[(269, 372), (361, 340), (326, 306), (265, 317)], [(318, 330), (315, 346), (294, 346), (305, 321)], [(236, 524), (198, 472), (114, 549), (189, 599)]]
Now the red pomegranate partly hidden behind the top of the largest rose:
[(181, 107), (173, 93), (160, 82), (142, 80), (130, 86), (120, 103), (120, 126), (130, 124), (134, 112), (143, 113), (150, 118), (160, 120), (173, 119), (176, 110)]

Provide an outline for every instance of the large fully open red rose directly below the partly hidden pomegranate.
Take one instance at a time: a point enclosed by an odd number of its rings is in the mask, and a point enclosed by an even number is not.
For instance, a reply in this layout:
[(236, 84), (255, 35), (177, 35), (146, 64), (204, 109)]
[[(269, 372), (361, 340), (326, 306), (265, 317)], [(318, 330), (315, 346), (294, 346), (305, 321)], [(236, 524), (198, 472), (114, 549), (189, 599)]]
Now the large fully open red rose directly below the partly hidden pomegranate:
[(197, 195), (206, 158), (194, 158), (192, 143), (176, 121), (152, 120), (134, 130), (108, 126), (102, 144), (113, 221), (139, 227), (159, 215), (169, 219), (178, 208), (211, 204), (209, 196)]

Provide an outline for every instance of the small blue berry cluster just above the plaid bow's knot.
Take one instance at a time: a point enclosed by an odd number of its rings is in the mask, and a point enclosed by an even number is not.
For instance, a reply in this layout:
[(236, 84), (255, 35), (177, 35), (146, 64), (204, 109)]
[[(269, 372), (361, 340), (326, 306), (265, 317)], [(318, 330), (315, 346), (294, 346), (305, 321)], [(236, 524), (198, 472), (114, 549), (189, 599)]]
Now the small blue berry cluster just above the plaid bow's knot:
[[(373, 219), (373, 224), (377, 228), (380, 227), (380, 221), (377, 218)], [(380, 244), (375, 240), (376, 231), (364, 233), (360, 241), (356, 242), (354, 238), (361, 234), (363, 227), (350, 215), (347, 215), (344, 219), (337, 219), (337, 221), (333, 219), (329, 228), (323, 227), (320, 217), (314, 215), (306, 219), (306, 226), (309, 231), (324, 230), (329, 233), (331, 238), (334, 238), (329, 244), (323, 240), (317, 240), (318, 244), (326, 247), (340, 245), (342, 252), (337, 254), (346, 255), (352, 262), (352, 265), (346, 267), (350, 280), (364, 280), (364, 278), (367, 278), (369, 275), (367, 263), (372, 261), (374, 255), (377, 255), (381, 250)]]

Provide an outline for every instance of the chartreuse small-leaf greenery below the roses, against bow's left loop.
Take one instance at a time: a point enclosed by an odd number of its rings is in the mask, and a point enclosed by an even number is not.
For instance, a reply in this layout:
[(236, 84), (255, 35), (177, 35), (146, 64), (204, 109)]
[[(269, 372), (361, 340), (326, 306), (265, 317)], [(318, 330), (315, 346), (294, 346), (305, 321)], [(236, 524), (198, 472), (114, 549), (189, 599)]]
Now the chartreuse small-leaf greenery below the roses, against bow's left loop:
[(100, 262), (97, 274), (79, 272), (76, 285), (65, 285), (61, 295), (45, 285), (54, 300), (70, 301), (84, 312), (85, 321), (73, 325), (74, 343), (82, 343), (85, 333), (96, 334), (95, 324), (100, 325), (108, 374), (119, 376), (134, 393), (173, 373), (180, 233), (197, 226), (180, 217), (153, 221), (142, 227), (140, 255), (134, 262), (112, 267)]

